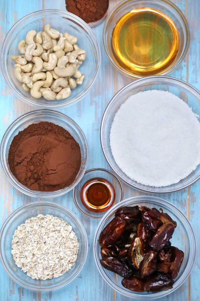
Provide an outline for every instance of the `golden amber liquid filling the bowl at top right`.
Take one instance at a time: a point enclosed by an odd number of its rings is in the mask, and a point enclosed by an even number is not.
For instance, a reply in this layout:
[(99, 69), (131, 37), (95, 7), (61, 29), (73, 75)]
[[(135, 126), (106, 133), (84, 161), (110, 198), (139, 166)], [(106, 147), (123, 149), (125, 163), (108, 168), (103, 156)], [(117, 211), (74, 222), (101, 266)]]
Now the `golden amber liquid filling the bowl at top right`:
[(122, 16), (112, 31), (116, 63), (136, 76), (168, 70), (180, 47), (178, 29), (172, 19), (154, 8), (136, 8)]

